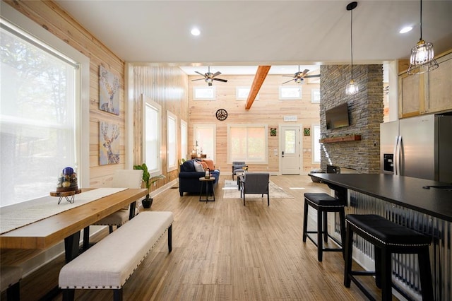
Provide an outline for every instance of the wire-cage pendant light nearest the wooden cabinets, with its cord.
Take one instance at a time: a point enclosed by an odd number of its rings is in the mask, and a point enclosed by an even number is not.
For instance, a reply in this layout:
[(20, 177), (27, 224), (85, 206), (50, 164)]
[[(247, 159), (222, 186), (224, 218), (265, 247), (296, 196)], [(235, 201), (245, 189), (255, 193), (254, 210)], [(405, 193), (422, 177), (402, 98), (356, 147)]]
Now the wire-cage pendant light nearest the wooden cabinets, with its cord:
[(408, 74), (420, 74), (438, 68), (438, 63), (434, 59), (433, 44), (422, 40), (422, 0), (421, 1), (421, 37), (415, 47), (411, 49), (410, 68)]

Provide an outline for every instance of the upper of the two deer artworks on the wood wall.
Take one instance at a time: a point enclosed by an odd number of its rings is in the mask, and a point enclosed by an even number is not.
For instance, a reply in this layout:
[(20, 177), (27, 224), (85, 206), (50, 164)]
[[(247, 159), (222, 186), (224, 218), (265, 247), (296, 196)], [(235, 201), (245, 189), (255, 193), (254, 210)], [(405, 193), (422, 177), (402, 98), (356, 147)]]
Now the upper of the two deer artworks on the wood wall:
[(99, 109), (119, 115), (119, 78), (99, 66)]

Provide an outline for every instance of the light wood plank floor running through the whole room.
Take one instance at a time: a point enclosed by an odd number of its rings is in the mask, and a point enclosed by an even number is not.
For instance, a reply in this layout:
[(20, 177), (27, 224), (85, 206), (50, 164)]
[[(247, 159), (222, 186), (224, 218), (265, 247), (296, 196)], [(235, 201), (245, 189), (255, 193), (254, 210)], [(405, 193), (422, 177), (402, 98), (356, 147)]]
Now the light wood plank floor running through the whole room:
[[(165, 236), (124, 285), (124, 300), (365, 299), (353, 283), (344, 287), (340, 252), (326, 252), (318, 262), (314, 244), (302, 242), (302, 196), (329, 192), (326, 185), (308, 176), (272, 176), (295, 199), (270, 195), (269, 207), (265, 196), (243, 206), (239, 199), (222, 199), (225, 179), (230, 175), (220, 177), (215, 202), (180, 197), (177, 187), (155, 197), (150, 210), (174, 213), (172, 253)], [(61, 256), (24, 278), (22, 300), (39, 300), (57, 285), (63, 265)], [(371, 279), (367, 283), (374, 286)], [(112, 292), (76, 290), (76, 300), (112, 300)]]

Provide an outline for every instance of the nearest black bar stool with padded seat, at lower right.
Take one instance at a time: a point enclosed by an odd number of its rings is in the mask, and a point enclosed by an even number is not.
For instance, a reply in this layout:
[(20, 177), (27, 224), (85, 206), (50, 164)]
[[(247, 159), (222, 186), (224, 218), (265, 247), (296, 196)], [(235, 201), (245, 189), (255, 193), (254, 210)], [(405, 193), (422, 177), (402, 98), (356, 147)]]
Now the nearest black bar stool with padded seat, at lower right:
[[(432, 273), (430, 271), (429, 245), (432, 238), (391, 222), (374, 214), (349, 214), (345, 218), (347, 235), (345, 237), (344, 285), (350, 288), (353, 281), (364, 295), (373, 300), (371, 294), (359, 283), (355, 276), (375, 276), (375, 283), (381, 288), (381, 300), (392, 300), (392, 259), (393, 253), (417, 254), (422, 300), (434, 300)], [(375, 271), (352, 271), (353, 234), (374, 244)], [(395, 287), (396, 288), (396, 287)], [(398, 290), (398, 288), (396, 288)], [(400, 291), (400, 290), (399, 290)], [(400, 293), (403, 293), (400, 291)]]

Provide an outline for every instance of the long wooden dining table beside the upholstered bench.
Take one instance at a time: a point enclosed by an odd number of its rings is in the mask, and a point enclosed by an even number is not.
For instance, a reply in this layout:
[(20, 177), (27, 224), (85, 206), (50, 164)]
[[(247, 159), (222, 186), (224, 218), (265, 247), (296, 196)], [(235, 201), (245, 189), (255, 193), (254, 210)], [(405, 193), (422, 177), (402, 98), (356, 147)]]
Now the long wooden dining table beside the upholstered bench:
[[(82, 189), (88, 190), (90, 189)], [(148, 189), (125, 189), (5, 232), (0, 235), (0, 248), (47, 249), (64, 240), (66, 262), (69, 262), (78, 255), (82, 229), (129, 204), (130, 217), (133, 218), (136, 201), (146, 194)]]

